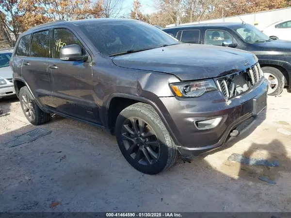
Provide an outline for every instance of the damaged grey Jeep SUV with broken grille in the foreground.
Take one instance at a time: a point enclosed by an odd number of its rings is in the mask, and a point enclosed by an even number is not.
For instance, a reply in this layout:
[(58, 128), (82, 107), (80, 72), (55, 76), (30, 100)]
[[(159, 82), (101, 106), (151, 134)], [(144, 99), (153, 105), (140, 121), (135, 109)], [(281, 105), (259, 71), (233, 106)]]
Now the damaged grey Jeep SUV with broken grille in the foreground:
[(131, 166), (148, 174), (237, 136), (266, 107), (257, 57), (181, 44), (128, 19), (57, 21), (19, 36), (16, 94), (34, 125), (50, 114), (115, 134)]

